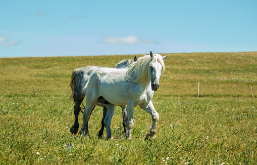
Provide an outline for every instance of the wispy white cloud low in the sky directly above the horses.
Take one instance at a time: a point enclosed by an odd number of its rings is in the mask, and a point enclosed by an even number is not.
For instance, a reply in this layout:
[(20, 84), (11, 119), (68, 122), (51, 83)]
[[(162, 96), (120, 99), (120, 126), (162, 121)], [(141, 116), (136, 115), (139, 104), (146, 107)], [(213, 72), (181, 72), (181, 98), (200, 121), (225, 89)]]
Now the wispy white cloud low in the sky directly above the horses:
[(138, 43), (158, 43), (154, 39), (141, 39), (137, 36), (126, 36), (123, 38), (105, 38), (101, 41), (102, 43), (113, 43), (113, 44), (138, 44)]

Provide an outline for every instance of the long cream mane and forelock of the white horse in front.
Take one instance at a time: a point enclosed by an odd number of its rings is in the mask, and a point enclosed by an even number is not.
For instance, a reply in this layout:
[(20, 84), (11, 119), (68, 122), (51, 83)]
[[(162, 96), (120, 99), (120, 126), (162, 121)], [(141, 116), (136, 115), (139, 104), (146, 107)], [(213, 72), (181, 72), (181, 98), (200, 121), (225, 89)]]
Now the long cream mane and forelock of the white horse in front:
[(144, 82), (148, 79), (148, 71), (154, 62), (159, 62), (163, 67), (163, 72), (165, 70), (164, 61), (159, 54), (154, 54), (153, 58), (150, 55), (145, 55), (143, 57), (139, 57), (135, 63), (132, 63), (129, 67), (129, 70), (126, 73), (126, 77), (128, 80), (132, 80), (133, 82)]

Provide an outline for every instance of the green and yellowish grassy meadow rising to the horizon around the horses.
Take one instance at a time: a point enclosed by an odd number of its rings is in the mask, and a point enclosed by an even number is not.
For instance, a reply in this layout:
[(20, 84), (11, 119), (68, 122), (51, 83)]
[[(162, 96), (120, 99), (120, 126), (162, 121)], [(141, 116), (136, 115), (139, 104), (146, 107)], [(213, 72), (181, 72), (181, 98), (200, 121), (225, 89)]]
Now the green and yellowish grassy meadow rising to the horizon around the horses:
[[(130, 141), (120, 107), (112, 119), (114, 140), (106, 141), (106, 132), (97, 138), (100, 107), (89, 121), (91, 137), (72, 135), (72, 70), (133, 58), (0, 58), (0, 164), (257, 164), (257, 52), (170, 54), (152, 100), (160, 116), (153, 141), (145, 141), (152, 118), (139, 106)], [(81, 126), (81, 113), (79, 119)]]

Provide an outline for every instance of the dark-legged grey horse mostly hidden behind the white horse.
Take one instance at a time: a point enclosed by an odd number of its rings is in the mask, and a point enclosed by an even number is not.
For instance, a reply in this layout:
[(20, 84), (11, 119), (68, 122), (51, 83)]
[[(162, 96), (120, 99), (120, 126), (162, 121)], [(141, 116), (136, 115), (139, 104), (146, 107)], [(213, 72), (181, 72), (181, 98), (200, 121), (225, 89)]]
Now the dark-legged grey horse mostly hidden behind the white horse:
[[(137, 60), (137, 57), (134, 57), (134, 60), (132, 59), (127, 59), (127, 60), (122, 60), (119, 63), (115, 64), (113, 66), (113, 68), (125, 68), (127, 67), (129, 64), (135, 62)], [(72, 76), (71, 76), (71, 81), (70, 81), (70, 87), (71, 87), (71, 97), (73, 97), (73, 101), (74, 101), (74, 115), (75, 115), (75, 122), (74, 125), (70, 128), (70, 132), (72, 134), (76, 134), (78, 132), (78, 128), (79, 128), (79, 123), (78, 123), (78, 116), (79, 116), (79, 111), (81, 111), (81, 104), (82, 101), (84, 99), (84, 97), (86, 96), (85, 92), (82, 90), (84, 88), (84, 86), (86, 85), (86, 83), (90, 80), (91, 74), (94, 72), (94, 70), (99, 69), (101, 67), (98, 66), (86, 66), (83, 68), (77, 68), (74, 69), (72, 72)], [(103, 98), (103, 97), (99, 97), (98, 98), (98, 103), (96, 105), (103, 107), (103, 119), (102, 119), (102, 127), (101, 130), (98, 133), (98, 136), (101, 138), (103, 136), (103, 129), (104, 129), (104, 118), (106, 115), (106, 106), (104, 104), (107, 104), (108, 102)], [(128, 130), (127, 130), (127, 110), (126, 110), (126, 105), (120, 106), (122, 108), (122, 118), (123, 118), (123, 128), (124, 128), (124, 134), (125, 136), (127, 136), (128, 134)], [(95, 108), (95, 106), (94, 106)], [(91, 112), (94, 110), (94, 108), (91, 110)], [(89, 134), (88, 132), (88, 123), (86, 125), (86, 133)]]

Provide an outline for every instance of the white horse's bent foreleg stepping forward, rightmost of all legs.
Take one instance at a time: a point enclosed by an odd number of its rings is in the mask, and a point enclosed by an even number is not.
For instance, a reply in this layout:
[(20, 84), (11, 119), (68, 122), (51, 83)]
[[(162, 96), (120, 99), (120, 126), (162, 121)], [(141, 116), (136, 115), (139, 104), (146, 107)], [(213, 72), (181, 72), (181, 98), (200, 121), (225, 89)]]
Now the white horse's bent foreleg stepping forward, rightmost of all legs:
[(152, 121), (153, 121), (152, 128), (150, 129), (150, 133), (147, 134), (145, 140), (148, 140), (150, 138), (155, 139), (154, 134), (156, 132), (157, 121), (159, 120), (159, 114), (155, 111), (152, 101), (150, 101), (149, 104), (147, 105), (140, 105), (140, 107), (152, 116)]

